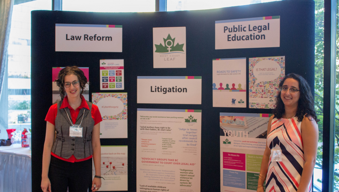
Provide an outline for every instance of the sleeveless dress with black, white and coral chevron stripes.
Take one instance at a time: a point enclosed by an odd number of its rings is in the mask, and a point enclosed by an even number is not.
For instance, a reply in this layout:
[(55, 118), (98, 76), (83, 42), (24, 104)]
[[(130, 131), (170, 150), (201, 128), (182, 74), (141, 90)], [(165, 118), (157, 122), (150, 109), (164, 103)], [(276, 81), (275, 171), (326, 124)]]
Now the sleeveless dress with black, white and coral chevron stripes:
[[(290, 119), (274, 118), (271, 132), (267, 135), (267, 145), (281, 148), (282, 161), (268, 161), (266, 192), (295, 192), (305, 164), (304, 147), (301, 138), (301, 121), (297, 117)], [(280, 143), (280, 144), (279, 144)], [(308, 191), (311, 191), (311, 181)]]

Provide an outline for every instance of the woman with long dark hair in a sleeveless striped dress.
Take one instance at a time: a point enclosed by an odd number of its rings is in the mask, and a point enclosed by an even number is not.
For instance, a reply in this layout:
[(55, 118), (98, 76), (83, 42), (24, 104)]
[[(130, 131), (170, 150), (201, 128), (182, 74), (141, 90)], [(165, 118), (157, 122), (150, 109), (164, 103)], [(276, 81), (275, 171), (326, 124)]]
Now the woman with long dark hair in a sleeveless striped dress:
[(268, 121), (266, 149), (257, 192), (311, 191), (316, 162), (319, 119), (310, 86), (297, 74), (279, 84), (276, 107)]

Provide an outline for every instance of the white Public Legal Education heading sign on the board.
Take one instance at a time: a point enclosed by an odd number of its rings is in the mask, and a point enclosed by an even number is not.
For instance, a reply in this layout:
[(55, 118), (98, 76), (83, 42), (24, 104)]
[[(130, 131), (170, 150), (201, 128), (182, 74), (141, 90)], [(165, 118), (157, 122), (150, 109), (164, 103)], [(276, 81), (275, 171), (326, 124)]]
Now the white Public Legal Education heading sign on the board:
[(215, 21), (215, 49), (280, 47), (280, 16)]

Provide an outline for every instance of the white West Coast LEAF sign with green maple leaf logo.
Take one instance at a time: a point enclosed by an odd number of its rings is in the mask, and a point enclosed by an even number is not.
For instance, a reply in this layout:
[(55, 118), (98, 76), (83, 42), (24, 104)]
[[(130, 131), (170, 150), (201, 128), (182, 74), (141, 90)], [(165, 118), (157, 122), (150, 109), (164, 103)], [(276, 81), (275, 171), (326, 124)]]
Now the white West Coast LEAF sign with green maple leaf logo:
[(186, 27), (153, 28), (153, 68), (186, 68)]

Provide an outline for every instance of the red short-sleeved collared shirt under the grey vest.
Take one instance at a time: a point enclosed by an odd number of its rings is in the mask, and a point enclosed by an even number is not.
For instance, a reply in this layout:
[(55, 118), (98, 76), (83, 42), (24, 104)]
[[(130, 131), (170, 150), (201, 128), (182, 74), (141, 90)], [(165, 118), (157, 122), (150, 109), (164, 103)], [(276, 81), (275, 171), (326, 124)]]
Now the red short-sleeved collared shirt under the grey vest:
[[(85, 98), (83, 96), (81, 96), (81, 104), (80, 104), (80, 106), (76, 110), (74, 110), (71, 107), (71, 105), (69, 105), (68, 100), (67, 100), (67, 96), (66, 96), (63, 99), (63, 101), (61, 103), (61, 106), (60, 106), (60, 109), (63, 109), (63, 108), (68, 108), (69, 112), (71, 112), (71, 117), (70, 118), (72, 118), (73, 124), (76, 122), (81, 108), (86, 108), (86, 109), (89, 110), (88, 104), (87, 104), (87, 102), (86, 102), (86, 100), (85, 100)], [(55, 125), (55, 118), (57, 117), (57, 113), (58, 113), (58, 103), (52, 105), (49, 108), (49, 110), (47, 112), (47, 115), (46, 115), (46, 118), (45, 118), (45, 121), (48, 121), (48, 122), (50, 122), (50, 123)], [(92, 118), (94, 120), (94, 125), (96, 125), (96, 124), (98, 124), (98, 123), (100, 123), (102, 121), (99, 108), (95, 104), (92, 104), (91, 115), (92, 115)], [(75, 158), (74, 155), (72, 155), (68, 159), (65, 159), (65, 158), (62, 158), (62, 157), (54, 154), (53, 152), (51, 152), (51, 155), (53, 155), (54, 157), (56, 157), (58, 159), (67, 161), (67, 162), (79, 162), (79, 161), (84, 161), (84, 160), (92, 158), (92, 155), (91, 155), (91, 156), (83, 158), (83, 159), (77, 159), (77, 158)]]

